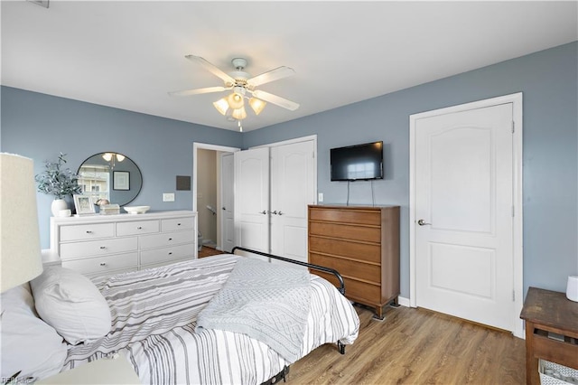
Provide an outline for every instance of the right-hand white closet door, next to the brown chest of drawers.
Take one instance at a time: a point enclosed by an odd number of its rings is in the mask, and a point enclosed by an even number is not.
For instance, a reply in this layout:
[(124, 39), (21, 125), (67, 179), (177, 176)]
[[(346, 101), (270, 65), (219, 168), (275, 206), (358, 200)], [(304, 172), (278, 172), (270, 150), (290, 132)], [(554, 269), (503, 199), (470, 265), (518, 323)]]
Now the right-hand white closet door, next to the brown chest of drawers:
[(271, 147), (271, 253), (303, 262), (307, 205), (315, 202), (314, 151), (312, 140)]

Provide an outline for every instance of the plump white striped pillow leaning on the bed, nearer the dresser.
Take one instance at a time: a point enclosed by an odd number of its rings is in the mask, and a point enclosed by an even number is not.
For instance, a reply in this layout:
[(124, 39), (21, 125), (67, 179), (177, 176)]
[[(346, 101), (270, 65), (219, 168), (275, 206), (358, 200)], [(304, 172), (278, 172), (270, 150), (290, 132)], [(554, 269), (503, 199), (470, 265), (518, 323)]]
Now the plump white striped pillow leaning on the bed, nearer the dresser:
[(38, 314), (69, 343), (88, 343), (110, 332), (107, 300), (79, 272), (45, 268), (30, 286)]

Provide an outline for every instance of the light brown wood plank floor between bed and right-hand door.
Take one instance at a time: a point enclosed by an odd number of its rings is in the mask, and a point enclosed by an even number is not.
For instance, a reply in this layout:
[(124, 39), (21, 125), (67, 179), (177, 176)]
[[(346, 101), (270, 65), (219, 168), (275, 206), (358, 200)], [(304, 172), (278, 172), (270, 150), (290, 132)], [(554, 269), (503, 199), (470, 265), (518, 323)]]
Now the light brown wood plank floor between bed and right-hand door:
[(356, 307), (358, 340), (340, 355), (320, 346), (295, 362), (287, 384), (525, 384), (526, 347), (511, 333), (404, 306), (386, 320)]

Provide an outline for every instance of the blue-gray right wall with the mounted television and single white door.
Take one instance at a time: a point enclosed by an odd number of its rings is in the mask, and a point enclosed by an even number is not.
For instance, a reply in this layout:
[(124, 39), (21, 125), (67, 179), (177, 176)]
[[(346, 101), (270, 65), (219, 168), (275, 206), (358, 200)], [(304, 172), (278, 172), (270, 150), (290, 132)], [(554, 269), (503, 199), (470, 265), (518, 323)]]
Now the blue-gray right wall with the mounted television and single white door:
[[(578, 43), (411, 89), (247, 132), (244, 148), (317, 134), (318, 192), (345, 203), (347, 183), (330, 182), (329, 150), (384, 141), (376, 204), (401, 205), (401, 292), (409, 296), (409, 116), (480, 99), (524, 95), (524, 287), (565, 291), (578, 274)], [(392, 74), (395, 76), (395, 74)], [(371, 203), (369, 182), (351, 183), (350, 203)]]

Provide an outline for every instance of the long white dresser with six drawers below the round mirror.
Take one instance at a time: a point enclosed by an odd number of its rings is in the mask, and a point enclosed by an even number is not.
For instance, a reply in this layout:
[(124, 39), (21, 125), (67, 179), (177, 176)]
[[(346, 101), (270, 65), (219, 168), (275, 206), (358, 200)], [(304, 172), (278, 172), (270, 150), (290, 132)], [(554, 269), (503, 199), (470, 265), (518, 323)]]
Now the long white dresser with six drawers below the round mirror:
[(86, 276), (197, 258), (194, 211), (51, 218), (51, 255)]

